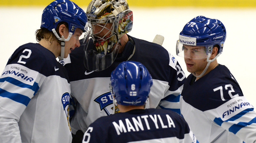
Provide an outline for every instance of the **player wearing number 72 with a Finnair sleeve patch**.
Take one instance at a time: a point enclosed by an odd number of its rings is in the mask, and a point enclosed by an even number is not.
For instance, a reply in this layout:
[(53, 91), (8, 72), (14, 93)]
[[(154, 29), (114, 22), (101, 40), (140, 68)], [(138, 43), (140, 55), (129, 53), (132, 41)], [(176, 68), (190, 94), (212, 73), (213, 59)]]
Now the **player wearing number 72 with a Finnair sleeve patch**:
[(255, 143), (256, 112), (235, 77), (218, 64), (226, 28), (198, 16), (180, 32), (177, 55), (191, 72), (181, 93), (181, 114), (200, 143)]

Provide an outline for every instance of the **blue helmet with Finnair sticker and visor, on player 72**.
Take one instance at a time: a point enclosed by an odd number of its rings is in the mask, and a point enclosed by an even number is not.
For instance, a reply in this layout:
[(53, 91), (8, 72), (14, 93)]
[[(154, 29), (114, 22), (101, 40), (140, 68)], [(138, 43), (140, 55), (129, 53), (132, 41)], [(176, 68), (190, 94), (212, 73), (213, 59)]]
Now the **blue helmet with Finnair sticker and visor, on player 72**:
[[(218, 45), (218, 56), (221, 54), (226, 40), (226, 28), (218, 19), (197, 16), (190, 20), (180, 32), (176, 45), (176, 54), (184, 57), (184, 45), (204, 47), (204, 55), (197, 55), (194, 59), (207, 58), (212, 48)], [(198, 51), (198, 49), (197, 49)], [(193, 58), (192, 58), (193, 59)]]

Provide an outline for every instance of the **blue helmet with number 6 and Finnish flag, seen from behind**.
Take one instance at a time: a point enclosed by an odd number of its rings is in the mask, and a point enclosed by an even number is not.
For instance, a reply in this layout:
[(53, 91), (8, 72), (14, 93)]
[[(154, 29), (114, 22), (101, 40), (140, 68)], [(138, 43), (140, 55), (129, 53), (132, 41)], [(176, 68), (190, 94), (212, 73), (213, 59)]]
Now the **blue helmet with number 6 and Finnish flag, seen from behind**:
[(144, 105), (152, 84), (147, 68), (134, 61), (122, 62), (110, 77), (110, 91), (121, 105)]

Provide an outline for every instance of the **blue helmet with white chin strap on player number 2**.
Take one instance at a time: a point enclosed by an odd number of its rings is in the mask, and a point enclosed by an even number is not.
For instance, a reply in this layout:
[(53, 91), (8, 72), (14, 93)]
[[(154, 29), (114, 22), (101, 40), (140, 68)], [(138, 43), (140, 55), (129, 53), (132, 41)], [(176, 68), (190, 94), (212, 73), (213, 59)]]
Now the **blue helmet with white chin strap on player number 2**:
[[(60, 37), (56, 28), (60, 22), (68, 23), (68, 38)], [(89, 23), (87, 22), (86, 13), (75, 3), (69, 0), (55, 0), (45, 7), (42, 14), (41, 28), (47, 28), (52, 31), (58, 40), (69, 41), (70, 37), (75, 33), (76, 28), (81, 29), (84, 34), (79, 37), (80, 45), (86, 45), (89, 39), (88, 31)], [(58, 29), (57, 29), (58, 30)], [(64, 46), (61, 44), (60, 60), (64, 57)]]

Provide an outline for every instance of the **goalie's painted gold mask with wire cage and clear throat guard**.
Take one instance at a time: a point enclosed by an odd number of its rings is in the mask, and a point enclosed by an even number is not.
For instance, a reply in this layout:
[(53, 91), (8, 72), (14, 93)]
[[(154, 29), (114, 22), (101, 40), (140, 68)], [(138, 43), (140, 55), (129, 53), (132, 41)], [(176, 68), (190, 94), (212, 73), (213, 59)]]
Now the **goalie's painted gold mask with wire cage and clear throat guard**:
[(132, 30), (132, 11), (126, 0), (92, 0), (86, 13), (93, 46), (84, 47), (84, 65), (90, 71), (101, 71), (114, 62), (118, 39)]

